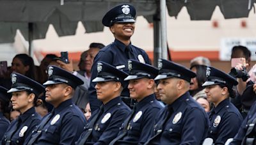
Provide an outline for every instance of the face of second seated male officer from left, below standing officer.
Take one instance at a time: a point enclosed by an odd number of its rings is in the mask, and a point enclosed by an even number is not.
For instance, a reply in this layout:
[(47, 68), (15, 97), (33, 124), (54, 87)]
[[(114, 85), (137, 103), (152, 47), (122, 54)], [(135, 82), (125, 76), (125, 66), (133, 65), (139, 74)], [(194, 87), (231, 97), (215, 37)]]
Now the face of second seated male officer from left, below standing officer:
[(106, 104), (109, 100), (115, 98), (116, 91), (118, 91), (118, 88), (116, 88), (115, 81), (102, 81), (98, 82), (95, 85), (95, 89), (97, 92), (97, 99), (101, 100), (103, 104)]

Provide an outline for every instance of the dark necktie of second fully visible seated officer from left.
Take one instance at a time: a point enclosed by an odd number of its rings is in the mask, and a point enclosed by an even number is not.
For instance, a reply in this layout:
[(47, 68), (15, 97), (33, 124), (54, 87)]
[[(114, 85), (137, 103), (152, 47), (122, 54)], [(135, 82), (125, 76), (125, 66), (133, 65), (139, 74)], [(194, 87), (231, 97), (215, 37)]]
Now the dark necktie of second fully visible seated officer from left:
[(39, 135), (42, 134), (42, 129), (44, 128), (46, 123), (49, 120), (51, 120), (53, 115), (54, 115), (54, 109), (52, 109), (51, 113), (47, 116), (47, 118), (42, 120), (42, 122), (40, 123), (39, 127), (35, 130), (36, 134), (31, 136), (31, 139), (29, 139), (28, 145), (33, 144), (36, 141), (36, 139), (39, 137)]

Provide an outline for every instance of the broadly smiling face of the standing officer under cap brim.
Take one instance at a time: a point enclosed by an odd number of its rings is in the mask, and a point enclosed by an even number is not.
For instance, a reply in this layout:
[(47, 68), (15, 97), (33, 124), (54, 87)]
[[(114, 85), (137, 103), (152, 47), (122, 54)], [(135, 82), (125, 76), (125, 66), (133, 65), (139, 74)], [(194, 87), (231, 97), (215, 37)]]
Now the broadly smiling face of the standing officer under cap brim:
[(129, 40), (134, 33), (134, 23), (115, 23), (110, 27), (110, 31), (116, 39)]

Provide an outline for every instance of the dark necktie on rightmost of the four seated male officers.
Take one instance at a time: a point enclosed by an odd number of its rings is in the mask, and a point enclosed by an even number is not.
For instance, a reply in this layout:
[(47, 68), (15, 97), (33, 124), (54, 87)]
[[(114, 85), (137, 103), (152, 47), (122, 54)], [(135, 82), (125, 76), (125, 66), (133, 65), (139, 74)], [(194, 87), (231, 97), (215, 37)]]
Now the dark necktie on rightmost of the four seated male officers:
[(162, 123), (159, 124), (159, 128), (161, 128), (161, 129), (157, 130), (156, 135), (151, 137), (145, 144), (152, 144), (152, 142), (156, 141), (157, 137), (162, 134), (163, 129), (164, 129), (165, 125), (166, 125), (166, 122), (169, 120), (169, 118), (171, 117), (172, 113), (173, 113), (172, 107), (168, 106), (168, 115), (167, 115), (166, 118), (164, 118)]

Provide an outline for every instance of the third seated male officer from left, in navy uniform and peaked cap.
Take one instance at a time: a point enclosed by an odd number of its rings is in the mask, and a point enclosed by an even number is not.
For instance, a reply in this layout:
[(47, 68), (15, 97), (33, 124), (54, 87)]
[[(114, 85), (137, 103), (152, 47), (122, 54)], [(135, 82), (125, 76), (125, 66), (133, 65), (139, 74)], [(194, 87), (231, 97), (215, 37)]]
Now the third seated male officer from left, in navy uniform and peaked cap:
[(144, 144), (150, 134), (156, 114), (162, 108), (154, 95), (158, 69), (136, 60), (128, 61), (130, 97), (137, 100), (130, 116), (120, 128), (118, 137), (110, 144)]

